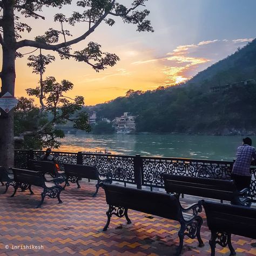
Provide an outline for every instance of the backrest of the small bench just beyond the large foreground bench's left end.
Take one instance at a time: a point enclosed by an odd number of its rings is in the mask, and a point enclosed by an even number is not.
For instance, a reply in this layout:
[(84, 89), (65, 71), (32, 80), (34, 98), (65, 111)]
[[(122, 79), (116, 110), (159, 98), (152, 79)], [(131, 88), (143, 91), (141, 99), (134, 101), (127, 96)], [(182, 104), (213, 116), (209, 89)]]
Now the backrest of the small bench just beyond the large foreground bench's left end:
[(80, 165), (80, 164), (63, 164), (65, 173), (68, 176), (76, 176), (86, 179), (98, 179), (98, 171), (96, 166)]

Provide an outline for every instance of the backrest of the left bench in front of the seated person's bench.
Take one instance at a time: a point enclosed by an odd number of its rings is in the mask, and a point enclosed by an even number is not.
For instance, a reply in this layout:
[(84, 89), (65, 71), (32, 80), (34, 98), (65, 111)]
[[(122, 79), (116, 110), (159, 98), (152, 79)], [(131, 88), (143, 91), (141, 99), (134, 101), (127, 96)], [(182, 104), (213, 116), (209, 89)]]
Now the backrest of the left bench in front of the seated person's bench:
[(14, 180), (16, 182), (26, 183), (29, 185), (35, 185), (39, 187), (45, 186), (42, 172), (18, 168), (12, 168), (12, 172), (14, 173)]

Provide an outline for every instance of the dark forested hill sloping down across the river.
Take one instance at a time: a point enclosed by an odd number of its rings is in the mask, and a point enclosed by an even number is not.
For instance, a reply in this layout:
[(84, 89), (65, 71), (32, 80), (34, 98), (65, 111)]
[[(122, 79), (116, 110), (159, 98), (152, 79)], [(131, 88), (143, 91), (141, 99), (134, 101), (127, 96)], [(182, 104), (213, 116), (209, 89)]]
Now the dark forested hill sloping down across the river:
[[(256, 132), (256, 41), (198, 73), (185, 85), (132, 91), (95, 106), (98, 118), (137, 116), (138, 132), (236, 134)], [(233, 84), (213, 92), (210, 87)]]

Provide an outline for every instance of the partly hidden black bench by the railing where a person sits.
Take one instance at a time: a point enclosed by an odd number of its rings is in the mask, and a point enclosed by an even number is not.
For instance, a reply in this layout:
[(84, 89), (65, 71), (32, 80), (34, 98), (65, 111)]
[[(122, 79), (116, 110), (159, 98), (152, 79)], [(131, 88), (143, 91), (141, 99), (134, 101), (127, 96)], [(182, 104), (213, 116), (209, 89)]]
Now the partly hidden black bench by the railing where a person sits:
[(52, 178), (59, 178), (60, 183), (66, 180), (64, 172), (58, 172), (56, 165), (53, 161), (38, 161), (29, 160), (28, 169), (42, 172), (44, 175), (49, 174)]

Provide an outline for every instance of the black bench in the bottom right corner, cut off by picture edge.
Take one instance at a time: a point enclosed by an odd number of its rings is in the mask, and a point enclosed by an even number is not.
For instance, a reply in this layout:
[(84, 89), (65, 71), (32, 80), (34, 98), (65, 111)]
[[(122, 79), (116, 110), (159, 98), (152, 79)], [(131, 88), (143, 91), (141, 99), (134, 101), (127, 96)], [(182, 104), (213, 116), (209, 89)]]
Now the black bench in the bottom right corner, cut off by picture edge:
[(231, 244), (231, 234), (256, 239), (256, 209), (236, 205), (226, 205), (201, 200), (208, 228), (211, 230), (211, 256), (215, 255), (215, 246), (228, 246), (230, 255), (235, 255)]

